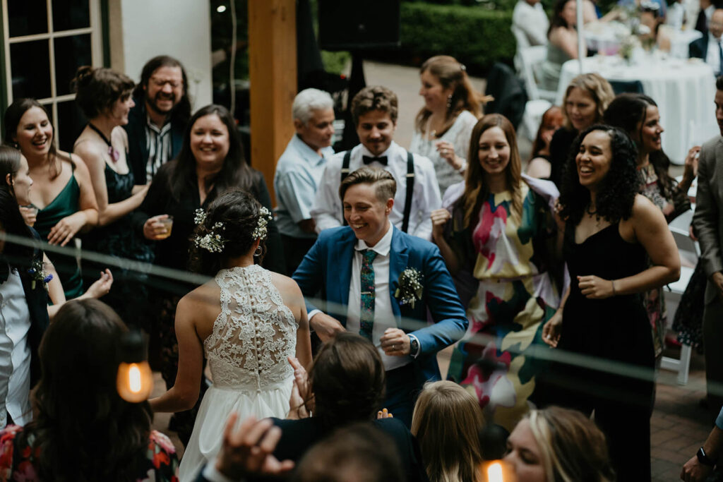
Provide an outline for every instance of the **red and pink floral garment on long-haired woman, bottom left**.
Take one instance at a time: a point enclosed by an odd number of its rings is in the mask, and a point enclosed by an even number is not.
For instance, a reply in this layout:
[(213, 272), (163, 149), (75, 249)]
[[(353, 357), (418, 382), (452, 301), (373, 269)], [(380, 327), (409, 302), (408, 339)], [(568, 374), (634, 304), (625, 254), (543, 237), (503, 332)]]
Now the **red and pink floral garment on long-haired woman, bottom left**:
[[(40, 482), (35, 463), (40, 448), (33, 447), (35, 436), (19, 437), (22, 427), (9, 425), (0, 431), (0, 482)], [(22, 440), (22, 442), (21, 442)], [(112, 450), (112, 444), (108, 450)], [(151, 431), (145, 457), (134, 461), (137, 482), (178, 482), (179, 459), (167, 436)]]

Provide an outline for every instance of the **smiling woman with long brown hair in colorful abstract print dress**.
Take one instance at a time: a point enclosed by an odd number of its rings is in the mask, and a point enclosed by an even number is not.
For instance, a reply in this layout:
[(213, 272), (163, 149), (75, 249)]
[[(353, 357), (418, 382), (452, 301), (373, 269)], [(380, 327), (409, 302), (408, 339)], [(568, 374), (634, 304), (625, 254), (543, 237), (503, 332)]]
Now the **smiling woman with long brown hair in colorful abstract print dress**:
[[(536, 370), (529, 358), (517, 357), (539, 342), (542, 322), (559, 301), (548, 273), (557, 241), (550, 208), (557, 190), (548, 181), (523, 178), (515, 129), (504, 116), (477, 122), (469, 153), (466, 181), (448, 189), (448, 209), (432, 212), (432, 236), (469, 318), (448, 376), (474, 387), (487, 416), (511, 430), (528, 410)], [(514, 345), (520, 347), (515, 353), (508, 350)], [(479, 363), (483, 359), (492, 371)]]

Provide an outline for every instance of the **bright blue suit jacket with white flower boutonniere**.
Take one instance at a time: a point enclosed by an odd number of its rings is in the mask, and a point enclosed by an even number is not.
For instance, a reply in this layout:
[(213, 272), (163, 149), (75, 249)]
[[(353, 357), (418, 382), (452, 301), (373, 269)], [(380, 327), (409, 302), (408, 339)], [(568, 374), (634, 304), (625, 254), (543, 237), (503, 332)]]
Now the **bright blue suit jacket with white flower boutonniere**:
[[(467, 330), (467, 317), (437, 246), (402, 233), (394, 226), (392, 229), (394, 231), (389, 259), (392, 311), (397, 326), (419, 340), (420, 351), (415, 364), (421, 385), (430, 379), (440, 379), (437, 351), (463, 337)], [(354, 246), (356, 236), (348, 226), (326, 229), (319, 235), (293, 276), (307, 298), (316, 296), (321, 291), (322, 298), (330, 308), (330, 314), (344, 326)], [(416, 268), (424, 276), (422, 300), (415, 303), (414, 308), (409, 304), (399, 306), (394, 296), (399, 285), (399, 275), (407, 267)], [(307, 310), (312, 309), (317, 307), (307, 301)], [(427, 324), (427, 309), (434, 321), (432, 325)], [(404, 322), (402, 318), (405, 319)]]

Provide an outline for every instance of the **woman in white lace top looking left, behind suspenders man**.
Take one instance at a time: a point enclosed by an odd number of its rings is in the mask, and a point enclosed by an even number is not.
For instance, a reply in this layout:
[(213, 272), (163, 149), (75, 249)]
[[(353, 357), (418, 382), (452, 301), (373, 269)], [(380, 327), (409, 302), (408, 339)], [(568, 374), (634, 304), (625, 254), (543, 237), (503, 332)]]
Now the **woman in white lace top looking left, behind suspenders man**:
[(448, 55), (427, 59), (419, 80), (424, 107), (416, 114), (409, 150), (432, 160), (444, 194), (463, 179), (469, 137), (486, 98), (474, 90), (465, 67)]

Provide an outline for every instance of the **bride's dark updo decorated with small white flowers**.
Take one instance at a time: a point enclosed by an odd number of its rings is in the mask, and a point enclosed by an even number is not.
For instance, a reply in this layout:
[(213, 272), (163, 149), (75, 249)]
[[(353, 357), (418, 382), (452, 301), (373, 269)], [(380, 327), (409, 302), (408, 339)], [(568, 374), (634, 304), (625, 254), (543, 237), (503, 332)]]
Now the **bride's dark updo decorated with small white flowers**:
[[(213, 276), (221, 269), (223, 259), (247, 254), (257, 237), (259, 264), (266, 254), (265, 208), (247, 191), (231, 188), (214, 199), (207, 212), (197, 210), (196, 230), (191, 238), (189, 269)], [(263, 225), (262, 229), (258, 229)], [(262, 236), (254, 236), (261, 234)]]

